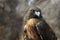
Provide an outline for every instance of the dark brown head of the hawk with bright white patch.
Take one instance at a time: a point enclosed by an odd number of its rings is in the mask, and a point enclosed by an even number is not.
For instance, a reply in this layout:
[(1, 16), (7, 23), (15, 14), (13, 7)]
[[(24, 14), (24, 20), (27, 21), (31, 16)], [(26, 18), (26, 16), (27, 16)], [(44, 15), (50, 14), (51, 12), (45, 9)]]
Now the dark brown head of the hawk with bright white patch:
[(41, 10), (39, 8), (30, 9), (28, 14), (29, 18), (37, 18), (37, 19), (42, 18)]

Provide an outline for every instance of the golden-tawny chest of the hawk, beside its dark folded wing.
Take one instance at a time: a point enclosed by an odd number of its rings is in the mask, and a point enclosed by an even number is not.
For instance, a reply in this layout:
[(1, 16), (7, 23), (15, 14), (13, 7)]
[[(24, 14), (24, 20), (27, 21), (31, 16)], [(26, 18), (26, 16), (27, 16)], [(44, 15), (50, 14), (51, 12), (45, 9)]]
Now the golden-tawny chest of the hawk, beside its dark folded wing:
[(25, 25), (26, 33), (25, 35), (28, 36), (29, 39), (31, 40), (38, 40), (38, 33), (36, 30), (36, 24), (38, 23), (38, 20), (29, 20), (27, 24)]

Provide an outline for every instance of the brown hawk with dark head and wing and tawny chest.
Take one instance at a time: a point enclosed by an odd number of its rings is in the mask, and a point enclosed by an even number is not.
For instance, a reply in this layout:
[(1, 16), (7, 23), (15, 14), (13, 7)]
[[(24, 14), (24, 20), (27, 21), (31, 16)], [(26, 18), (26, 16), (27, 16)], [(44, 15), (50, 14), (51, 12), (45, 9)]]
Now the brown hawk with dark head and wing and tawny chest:
[(26, 14), (24, 40), (57, 40), (51, 27), (42, 17), (40, 8), (31, 8)]

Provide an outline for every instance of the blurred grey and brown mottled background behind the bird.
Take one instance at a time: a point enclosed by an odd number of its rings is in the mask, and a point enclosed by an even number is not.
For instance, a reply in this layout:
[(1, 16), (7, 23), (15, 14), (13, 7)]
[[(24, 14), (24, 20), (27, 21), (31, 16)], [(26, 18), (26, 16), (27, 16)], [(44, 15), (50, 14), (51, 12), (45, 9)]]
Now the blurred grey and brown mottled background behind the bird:
[(0, 0), (0, 40), (18, 40), (24, 15), (32, 7), (42, 10), (43, 18), (60, 40), (60, 0)]

